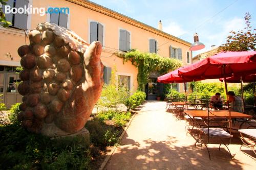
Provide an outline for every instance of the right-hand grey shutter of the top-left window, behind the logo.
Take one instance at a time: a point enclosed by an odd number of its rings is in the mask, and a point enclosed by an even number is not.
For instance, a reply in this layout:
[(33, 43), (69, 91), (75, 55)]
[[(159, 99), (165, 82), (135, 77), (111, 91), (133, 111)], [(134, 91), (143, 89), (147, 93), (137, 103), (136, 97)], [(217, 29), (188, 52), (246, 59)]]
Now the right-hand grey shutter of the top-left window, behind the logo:
[[(24, 6), (28, 7), (29, 1), (28, 0), (19, 0), (16, 1), (15, 8), (24, 8)], [(27, 29), (28, 23), (28, 14), (19, 14), (16, 13), (14, 17), (14, 27)]]

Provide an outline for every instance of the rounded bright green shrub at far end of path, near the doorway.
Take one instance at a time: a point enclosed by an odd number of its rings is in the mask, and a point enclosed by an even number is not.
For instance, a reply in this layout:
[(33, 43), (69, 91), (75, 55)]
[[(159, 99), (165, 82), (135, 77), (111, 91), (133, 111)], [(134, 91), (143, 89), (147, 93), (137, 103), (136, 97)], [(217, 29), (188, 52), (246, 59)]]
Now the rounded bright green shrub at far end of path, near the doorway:
[(145, 99), (146, 93), (138, 90), (129, 97), (126, 102), (126, 106), (129, 109), (135, 109), (137, 106), (141, 105), (145, 101)]

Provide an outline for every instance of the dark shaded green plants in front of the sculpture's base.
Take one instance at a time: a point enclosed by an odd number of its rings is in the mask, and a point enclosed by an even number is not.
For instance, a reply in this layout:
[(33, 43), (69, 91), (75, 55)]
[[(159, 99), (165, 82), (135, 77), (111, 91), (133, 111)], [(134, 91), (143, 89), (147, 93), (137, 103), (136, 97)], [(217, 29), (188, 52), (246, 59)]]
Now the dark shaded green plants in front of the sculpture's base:
[(0, 127), (1, 169), (89, 169), (88, 143), (50, 139), (17, 124)]

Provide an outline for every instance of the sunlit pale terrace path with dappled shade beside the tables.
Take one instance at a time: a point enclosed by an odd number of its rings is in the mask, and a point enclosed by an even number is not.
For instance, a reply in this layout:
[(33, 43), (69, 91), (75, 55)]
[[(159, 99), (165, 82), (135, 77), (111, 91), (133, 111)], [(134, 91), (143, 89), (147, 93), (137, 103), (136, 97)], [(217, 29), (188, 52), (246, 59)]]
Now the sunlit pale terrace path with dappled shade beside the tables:
[(211, 160), (206, 148), (194, 146), (195, 139), (186, 134), (184, 120), (176, 121), (165, 112), (165, 102), (146, 102), (132, 120), (121, 144), (111, 156), (105, 169), (255, 169), (255, 155), (242, 148), (240, 139), (232, 138), (229, 149), (209, 144)]

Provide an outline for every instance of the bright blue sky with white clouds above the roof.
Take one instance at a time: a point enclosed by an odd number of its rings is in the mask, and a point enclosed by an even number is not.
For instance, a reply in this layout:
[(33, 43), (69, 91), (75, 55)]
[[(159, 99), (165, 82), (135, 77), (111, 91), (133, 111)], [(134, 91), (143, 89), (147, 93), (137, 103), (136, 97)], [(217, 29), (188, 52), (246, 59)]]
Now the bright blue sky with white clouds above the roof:
[[(92, 2), (193, 43), (194, 33), (205, 48), (193, 51), (193, 57), (219, 46), (230, 31), (243, 30), (245, 13), (251, 14), (256, 27), (255, 0), (91, 0)], [(159, 44), (161, 45), (161, 44)]]

